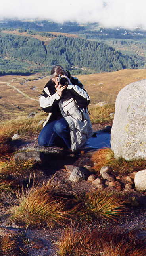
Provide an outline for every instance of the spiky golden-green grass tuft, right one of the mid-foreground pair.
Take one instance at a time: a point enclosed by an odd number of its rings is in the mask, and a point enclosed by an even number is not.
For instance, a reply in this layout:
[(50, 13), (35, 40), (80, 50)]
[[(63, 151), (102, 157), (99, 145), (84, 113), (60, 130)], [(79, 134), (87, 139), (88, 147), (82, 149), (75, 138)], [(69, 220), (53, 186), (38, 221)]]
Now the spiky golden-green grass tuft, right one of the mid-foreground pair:
[(104, 219), (113, 219), (122, 215), (126, 211), (124, 206), (126, 200), (117, 194), (107, 194), (105, 191), (90, 191), (81, 198), (83, 203), (81, 214), (87, 218), (101, 217)]

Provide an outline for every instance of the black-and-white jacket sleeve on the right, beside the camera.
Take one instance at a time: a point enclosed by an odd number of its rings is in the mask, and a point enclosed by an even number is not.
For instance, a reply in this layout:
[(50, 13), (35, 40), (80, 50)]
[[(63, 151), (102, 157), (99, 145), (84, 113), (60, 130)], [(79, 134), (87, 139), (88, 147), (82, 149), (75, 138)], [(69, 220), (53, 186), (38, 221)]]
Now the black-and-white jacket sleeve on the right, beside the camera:
[[(77, 105), (80, 108), (85, 108), (90, 103), (90, 97), (86, 90), (83, 88), (82, 83), (77, 79), (73, 79), (74, 84), (70, 84), (67, 86), (67, 89), (70, 91), (70, 93), (73, 95), (75, 100), (77, 101)], [(73, 83), (72, 82), (72, 83)]]

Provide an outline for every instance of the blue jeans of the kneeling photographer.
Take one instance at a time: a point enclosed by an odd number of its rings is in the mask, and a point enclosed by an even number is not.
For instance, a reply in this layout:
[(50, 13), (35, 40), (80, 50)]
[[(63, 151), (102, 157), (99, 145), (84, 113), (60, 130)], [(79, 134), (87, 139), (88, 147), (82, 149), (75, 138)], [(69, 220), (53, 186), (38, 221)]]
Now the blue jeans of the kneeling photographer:
[(64, 118), (46, 124), (38, 137), (40, 146), (60, 146), (71, 148), (69, 125)]

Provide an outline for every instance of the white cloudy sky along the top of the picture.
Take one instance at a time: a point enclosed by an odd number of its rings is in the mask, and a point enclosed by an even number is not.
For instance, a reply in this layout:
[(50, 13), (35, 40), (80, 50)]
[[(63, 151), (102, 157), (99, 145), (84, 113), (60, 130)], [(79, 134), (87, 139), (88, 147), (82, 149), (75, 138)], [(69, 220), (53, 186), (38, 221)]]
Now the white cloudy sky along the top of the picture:
[(0, 0), (0, 19), (4, 17), (146, 28), (146, 0)]

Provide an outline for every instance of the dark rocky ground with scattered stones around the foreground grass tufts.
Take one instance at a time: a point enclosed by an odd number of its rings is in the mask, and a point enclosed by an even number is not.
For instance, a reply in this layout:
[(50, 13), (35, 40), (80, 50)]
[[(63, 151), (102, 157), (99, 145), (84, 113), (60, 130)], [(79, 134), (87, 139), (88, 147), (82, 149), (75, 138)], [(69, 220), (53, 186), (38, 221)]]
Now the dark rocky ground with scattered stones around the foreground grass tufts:
[[(94, 131), (101, 130), (104, 127), (105, 124), (94, 125)], [(128, 210), (118, 218), (118, 221), (88, 220), (82, 223), (83, 226), (88, 226), (91, 229), (98, 228), (99, 230), (106, 228), (111, 230), (137, 229), (140, 238), (146, 236), (146, 193), (138, 193), (135, 190), (135, 173), (131, 177), (125, 175), (123, 179), (120, 179), (118, 173), (110, 168), (102, 168), (100, 173), (95, 173), (93, 169), (94, 162), (91, 161), (94, 151), (86, 152), (83, 149), (76, 154), (72, 154), (62, 148), (54, 147), (42, 150), (40, 153), (37, 140), (33, 136), (29, 140), (14, 141), (13, 146), (15, 150), (23, 149), (23, 151), (26, 151), (27, 149), (27, 154), (25, 152), (20, 153), (22, 158), (29, 158), (29, 151), (31, 151), (34, 158), (37, 158), (35, 181), (38, 183), (47, 182), (51, 179), (52, 183), (62, 192), (80, 195), (91, 190), (104, 189), (123, 194), (128, 199)], [(31, 179), (33, 179), (33, 175)], [(20, 186), (22, 184), (26, 186), (28, 182), (28, 175), (19, 177)], [(17, 204), (15, 193), (0, 193), (0, 235), (16, 234), (19, 240), (19, 253), (15, 252), (15, 256), (58, 256), (56, 252), (57, 240), (67, 224), (55, 226), (51, 230), (49, 228), (26, 229), (20, 223), (15, 223), (10, 219), (9, 210), (15, 204)]]

